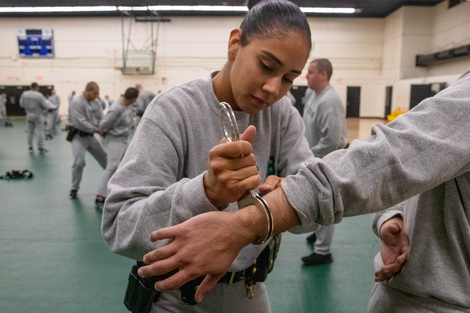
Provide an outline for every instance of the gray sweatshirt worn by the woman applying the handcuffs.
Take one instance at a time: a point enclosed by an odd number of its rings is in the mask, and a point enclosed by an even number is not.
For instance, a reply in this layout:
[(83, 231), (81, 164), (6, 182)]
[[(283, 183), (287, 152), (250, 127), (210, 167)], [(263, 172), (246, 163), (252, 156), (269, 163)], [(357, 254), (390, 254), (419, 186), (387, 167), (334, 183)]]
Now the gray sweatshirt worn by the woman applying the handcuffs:
[[(240, 111), (235, 117), (240, 133), (249, 125), (257, 128), (253, 153), (263, 181), (268, 175), (293, 174), (313, 157), (302, 118), (287, 97), (256, 115)], [(205, 195), (203, 176), (209, 151), (221, 138), (219, 100), (211, 79), (174, 87), (150, 103), (108, 183), (102, 234), (111, 250), (141, 260), (167, 243), (151, 243), (152, 231), (217, 211)], [(225, 211), (235, 210), (231, 203)], [(250, 266), (265, 245), (243, 248), (231, 270)]]

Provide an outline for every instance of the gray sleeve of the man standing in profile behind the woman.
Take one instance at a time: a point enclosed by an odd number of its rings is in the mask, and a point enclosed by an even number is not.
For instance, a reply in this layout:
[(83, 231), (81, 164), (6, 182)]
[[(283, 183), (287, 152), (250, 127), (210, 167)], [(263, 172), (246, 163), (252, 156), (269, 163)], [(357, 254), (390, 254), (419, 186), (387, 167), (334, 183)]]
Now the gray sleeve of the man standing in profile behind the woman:
[(311, 148), (314, 156), (324, 157), (338, 148), (344, 148), (342, 147), (343, 127), (338, 127), (338, 125), (344, 125), (345, 117), (342, 116), (343, 112), (335, 109), (332, 103), (328, 103), (328, 106), (319, 105), (319, 110), (324, 110), (324, 112), (318, 114), (321, 139)]

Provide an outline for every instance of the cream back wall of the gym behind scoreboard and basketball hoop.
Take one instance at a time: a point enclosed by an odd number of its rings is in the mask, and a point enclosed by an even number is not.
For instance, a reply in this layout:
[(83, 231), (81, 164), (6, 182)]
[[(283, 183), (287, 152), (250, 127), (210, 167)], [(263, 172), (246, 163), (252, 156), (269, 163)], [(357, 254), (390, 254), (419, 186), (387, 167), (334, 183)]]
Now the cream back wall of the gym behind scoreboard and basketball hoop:
[[(164, 91), (219, 70), (226, 62), (229, 33), (241, 21), (242, 17), (172, 17), (171, 22), (160, 24), (156, 74), (134, 77), (123, 76), (119, 70), (120, 18), (1, 18), (0, 84), (29, 85), (40, 75), (39, 84), (55, 85), (63, 103), (62, 115), (67, 114), (67, 95), (72, 90), (80, 93), (90, 80), (99, 83), (102, 96), (112, 98), (136, 83), (154, 92)], [(309, 18), (309, 23), (314, 42), (311, 59), (332, 61), (331, 82), (344, 101), (346, 86), (376, 84), (381, 76), (383, 19)], [(19, 59), (16, 29), (20, 27), (51, 27), (55, 58)], [(133, 23), (132, 30), (132, 41), (140, 48), (149, 36), (150, 23)], [(298, 78), (295, 84), (306, 85), (306, 81)], [(362, 93), (364, 116), (376, 105), (368, 95), (371, 89), (366, 87)]]

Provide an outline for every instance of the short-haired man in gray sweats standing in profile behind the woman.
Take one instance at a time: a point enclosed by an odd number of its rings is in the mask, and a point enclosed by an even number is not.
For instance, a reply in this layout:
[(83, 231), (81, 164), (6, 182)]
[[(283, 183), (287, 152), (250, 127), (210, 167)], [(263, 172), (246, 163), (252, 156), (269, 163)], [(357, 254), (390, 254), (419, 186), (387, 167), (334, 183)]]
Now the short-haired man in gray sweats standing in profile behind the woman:
[[(329, 84), (332, 74), (333, 67), (327, 59), (312, 61), (307, 72), (308, 89), (303, 114), (305, 137), (313, 155), (320, 158), (348, 144), (345, 110), (339, 94)], [(314, 251), (302, 258), (306, 266), (333, 262), (331, 242), (334, 232), (335, 224), (331, 224), (321, 226), (307, 237), (308, 243), (314, 243)]]

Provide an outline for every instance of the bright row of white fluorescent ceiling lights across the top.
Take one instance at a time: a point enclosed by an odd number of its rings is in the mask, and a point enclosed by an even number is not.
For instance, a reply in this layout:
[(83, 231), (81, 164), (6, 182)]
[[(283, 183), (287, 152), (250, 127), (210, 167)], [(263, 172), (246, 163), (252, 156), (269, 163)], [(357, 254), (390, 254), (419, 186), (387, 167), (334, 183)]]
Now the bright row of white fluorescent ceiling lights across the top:
[[(0, 12), (94, 12), (94, 11), (248, 11), (242, 6), (148, 6), (148, 7), (0, 7)], [(300, 8), (305, 13), (355, 13), (354, 8)]]

